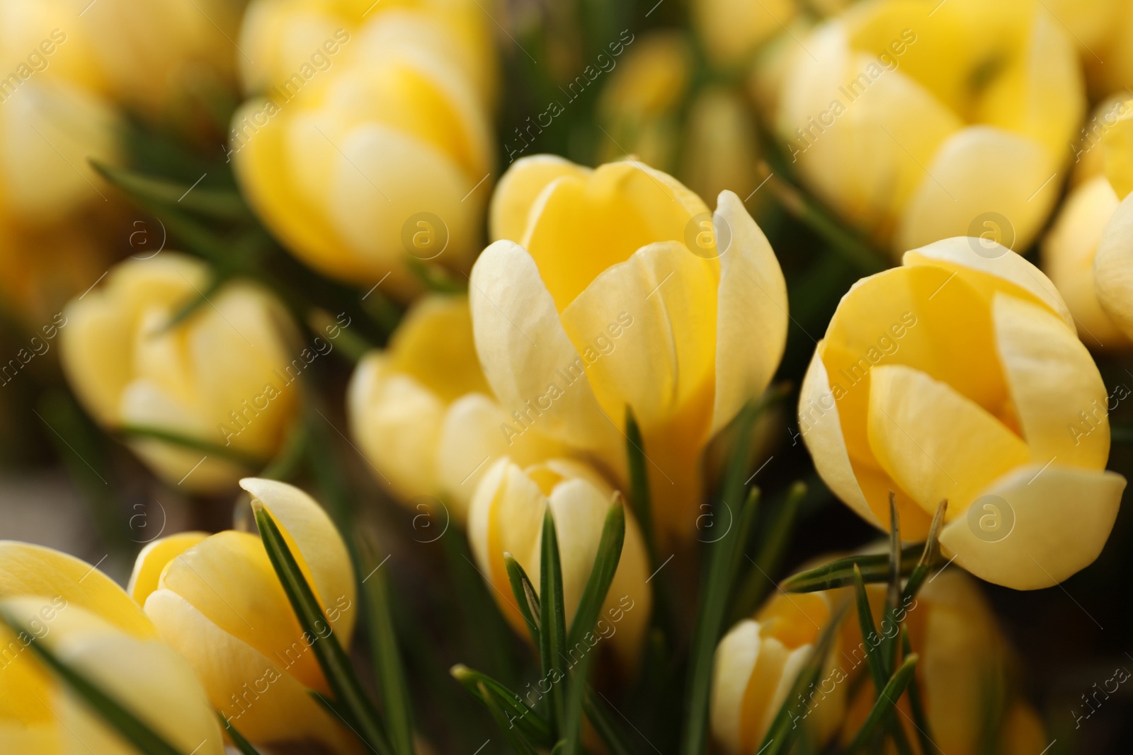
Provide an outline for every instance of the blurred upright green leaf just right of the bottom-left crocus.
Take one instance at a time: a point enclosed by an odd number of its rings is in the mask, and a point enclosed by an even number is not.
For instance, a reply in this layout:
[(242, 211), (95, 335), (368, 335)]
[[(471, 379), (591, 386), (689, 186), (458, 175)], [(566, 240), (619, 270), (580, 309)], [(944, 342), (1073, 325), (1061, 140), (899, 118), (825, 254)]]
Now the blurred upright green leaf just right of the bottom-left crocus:
[(397, 755), (414, 752), (414, 717), (409, 702), (409, 686), (398, 650), (398, 633), (390, 610), (390, 586), (381, 563), (366, 559), (367, 568), (373, 567), (363, 583), (366, 590), (366, 627), (369, 630), (369, 646), (374, 657), (374, 676), (382, 694), (385, 723), (390, 732), (390, 744)]

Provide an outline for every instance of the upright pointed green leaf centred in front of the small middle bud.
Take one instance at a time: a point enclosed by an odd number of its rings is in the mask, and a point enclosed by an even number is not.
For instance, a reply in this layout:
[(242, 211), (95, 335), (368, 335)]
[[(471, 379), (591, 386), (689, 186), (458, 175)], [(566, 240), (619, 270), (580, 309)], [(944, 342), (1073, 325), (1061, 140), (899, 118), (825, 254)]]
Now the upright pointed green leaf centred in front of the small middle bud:
[(539, 660), (543, 678), (551, 681), (551, 721), (555, 731), (566, 714), (563, 685), (566, 669), (566, 609), (563, 607), (562, 561), (559, 535), (551, 507), (543, 514), (543, 543), (539, 569)]

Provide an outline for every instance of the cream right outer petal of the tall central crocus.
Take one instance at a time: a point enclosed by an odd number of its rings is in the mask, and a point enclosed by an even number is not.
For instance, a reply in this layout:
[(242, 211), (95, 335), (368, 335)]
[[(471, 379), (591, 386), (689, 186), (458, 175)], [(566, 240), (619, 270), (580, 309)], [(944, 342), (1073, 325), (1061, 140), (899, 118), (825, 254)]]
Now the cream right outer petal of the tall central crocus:
[(719, 256), (716, 303), (716, 396), (712, 434), (770, 383), (786, 348), (786, 282), (767, 237), (740, 198), (722, 191), (714, 216)]

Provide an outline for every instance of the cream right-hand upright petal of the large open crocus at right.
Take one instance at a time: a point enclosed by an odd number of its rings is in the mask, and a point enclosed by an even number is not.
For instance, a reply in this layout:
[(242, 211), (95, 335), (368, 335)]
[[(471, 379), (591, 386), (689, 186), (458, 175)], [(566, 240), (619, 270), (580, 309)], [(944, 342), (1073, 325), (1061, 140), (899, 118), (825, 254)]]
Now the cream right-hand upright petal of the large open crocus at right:
[(1007, 294), (993, 303), (996, 344), (1031, 461), (1101, 470), (1109, 398), (1093, 358), (1062, 320)]

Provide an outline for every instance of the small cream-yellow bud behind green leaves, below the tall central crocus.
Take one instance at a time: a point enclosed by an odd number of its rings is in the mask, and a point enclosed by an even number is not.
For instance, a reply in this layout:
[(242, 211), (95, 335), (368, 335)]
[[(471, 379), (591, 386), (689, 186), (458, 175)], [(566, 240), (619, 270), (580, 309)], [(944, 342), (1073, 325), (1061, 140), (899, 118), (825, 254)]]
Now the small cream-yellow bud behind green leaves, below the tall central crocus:
[[(468, 540), (480, 573), (494, 587), (496, 602), (516, 632), (527, 636), (527, 625), (516, 606), (504, 554), (511, 554), (536, 591), (539, 590), (543, 516), (551, 508), (562, 563), (563, 607), (570, 627), (582, 590), (598, 555), (598, 542), (613, 488), (591, 469), (574, 462), (550, 460), (522, 469), (509, 458), (492, 465), (476, 488), (468, 515)], [(625, 512), (622, 557), (586, 646), (568, 649), (574, 664), (590, 647), (608, 640), (622, 668), (637, 668), (641, 640), (649, 625), (653, 601), (646, 578), (649, 561), (637, 522)], [(591, 642), (593, 641), (593, 642)], [(581, 643), (580, 643), (581, 644)], [(544, 690), (545, 692), (545, 690)], [(537, 700), (528, 700), (531, 705)]]

